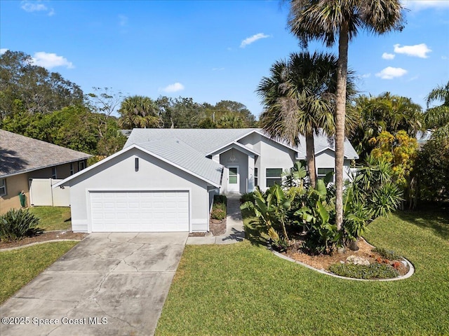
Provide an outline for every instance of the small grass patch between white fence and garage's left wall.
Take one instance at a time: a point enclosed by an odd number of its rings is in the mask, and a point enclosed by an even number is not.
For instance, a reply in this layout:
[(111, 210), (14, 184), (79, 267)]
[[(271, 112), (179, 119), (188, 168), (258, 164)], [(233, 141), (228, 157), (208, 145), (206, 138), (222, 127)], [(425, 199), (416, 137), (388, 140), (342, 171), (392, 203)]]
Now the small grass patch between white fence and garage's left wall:
[(43, 230), (70, 230), (72, 221), (69, 207), (31, 207), (29, 212), (41, 219)]

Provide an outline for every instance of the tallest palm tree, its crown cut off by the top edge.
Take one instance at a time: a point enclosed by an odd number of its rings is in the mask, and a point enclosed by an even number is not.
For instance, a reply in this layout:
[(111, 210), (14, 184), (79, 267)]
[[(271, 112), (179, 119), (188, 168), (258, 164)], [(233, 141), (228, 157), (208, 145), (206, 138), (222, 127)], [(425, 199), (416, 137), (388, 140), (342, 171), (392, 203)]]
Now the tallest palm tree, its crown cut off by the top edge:
[[(311, 40), (328, 47), (338, 43), (337, 109), (335, 111), (335, 222), (343, 222), (344, 118), (348, 44), (361, 29), (384, 34), (403, 28), (400, 0), (290, 0), (288, 25), (304, 47)], [(337, 41), (336, 41), (337, 40)]]

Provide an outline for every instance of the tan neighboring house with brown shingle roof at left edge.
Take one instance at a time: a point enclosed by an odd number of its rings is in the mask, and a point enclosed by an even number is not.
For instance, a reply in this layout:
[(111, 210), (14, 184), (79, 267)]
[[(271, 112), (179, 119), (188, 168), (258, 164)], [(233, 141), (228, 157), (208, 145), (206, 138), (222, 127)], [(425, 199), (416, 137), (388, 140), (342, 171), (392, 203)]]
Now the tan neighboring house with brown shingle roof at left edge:
[[(32, 179), (65, 179), (84, 169), (86, 153), (0, 130), (0, 214), (29, 204)], [(50, 189), (51, 190), (51, 189)]]

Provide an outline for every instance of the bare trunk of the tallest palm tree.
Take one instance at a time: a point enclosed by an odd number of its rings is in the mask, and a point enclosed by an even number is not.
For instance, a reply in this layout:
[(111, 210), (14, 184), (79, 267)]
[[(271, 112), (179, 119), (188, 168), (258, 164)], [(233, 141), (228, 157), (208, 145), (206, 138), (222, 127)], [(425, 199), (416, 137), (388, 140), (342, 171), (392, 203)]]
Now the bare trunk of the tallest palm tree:
[(348, 29), (346, 25), (342, 25), (338, 38), (337, 108), (335, 110), (335, 224), (337, 230), (342, 230), (343, 223), (344, 120), (346, 118), (348, 41)]

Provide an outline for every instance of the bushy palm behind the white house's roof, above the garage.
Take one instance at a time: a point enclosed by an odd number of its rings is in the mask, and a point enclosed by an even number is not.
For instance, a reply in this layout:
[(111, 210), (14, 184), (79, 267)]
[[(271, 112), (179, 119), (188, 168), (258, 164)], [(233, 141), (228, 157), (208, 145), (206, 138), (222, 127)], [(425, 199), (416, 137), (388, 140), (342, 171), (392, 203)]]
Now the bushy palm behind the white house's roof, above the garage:
[(119, 113), (121, 114), (119, 125), (125, 129), (161, 127), (162, 125), (162, 120), (157, 115), (157, 106), (149, 97), (126, 97), (121, 102)]

